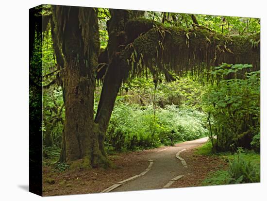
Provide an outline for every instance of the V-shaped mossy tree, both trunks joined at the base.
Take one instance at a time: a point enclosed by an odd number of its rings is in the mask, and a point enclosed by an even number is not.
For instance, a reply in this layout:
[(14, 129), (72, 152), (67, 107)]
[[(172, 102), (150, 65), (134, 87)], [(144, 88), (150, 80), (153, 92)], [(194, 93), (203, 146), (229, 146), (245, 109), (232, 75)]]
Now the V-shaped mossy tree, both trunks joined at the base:
[(97, 9), (53, 6), (52, 13), (55, 53), (57, 59), (64, 55), (65, 122), (60, 161), (77, 164), (78, 160), (79, 166), (109, 167), (104, 138), (123, 81), (124, 61), (119, 57), (119, 49), (126, 45), (126, 22), (143, 12), (111, 10), (107, 48), (109, 65), (95, 119), (95, 74), (100, 51)]

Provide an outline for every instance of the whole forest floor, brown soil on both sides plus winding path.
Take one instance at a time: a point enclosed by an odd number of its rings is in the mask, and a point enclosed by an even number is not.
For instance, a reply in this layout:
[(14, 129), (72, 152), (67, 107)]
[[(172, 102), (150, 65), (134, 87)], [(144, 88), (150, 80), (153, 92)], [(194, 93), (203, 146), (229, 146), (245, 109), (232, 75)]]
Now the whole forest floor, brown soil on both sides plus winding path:
[[(116, 169), (95, 168), (58, 173), (53, 172), (51, 167), (44, 167), (43, 194), (51, 196), (99, 193), (117, 182), (140, 174), (148, 168), (149, 159), (153, 160), (154, 164), (147, 174), (122, 184), (112, 192), (160, 189), (178, 175), (184, 177), (174, 182), (170, 188), (200, 186), (208, 173), (224, 169), (228, 165), (220, 157), (197, 154), (196, 148), (206, 141), (207, 138), (200, 138), (176, 144), (175, 147), (117, 153), (109, 156), (117, 165)], [(184, 158), (188, 168), (184, 168), (181, 161), (175, 157), (175, 154), (183, 149), (186, 150), (181, 152), (180, 156)]]

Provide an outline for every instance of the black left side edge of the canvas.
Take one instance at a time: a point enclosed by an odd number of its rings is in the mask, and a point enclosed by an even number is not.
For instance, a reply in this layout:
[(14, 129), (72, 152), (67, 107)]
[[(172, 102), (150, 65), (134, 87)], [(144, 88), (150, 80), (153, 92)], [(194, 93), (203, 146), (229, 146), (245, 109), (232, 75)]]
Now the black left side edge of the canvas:
[(42, 17), (34, 17), (36, 7), (29, 9), (29, 92), (34, 94), (29, 94), (29, 191), (42, 196), (42, 64), (31, 65), (31, 37), (36, 25), (42, 26)]

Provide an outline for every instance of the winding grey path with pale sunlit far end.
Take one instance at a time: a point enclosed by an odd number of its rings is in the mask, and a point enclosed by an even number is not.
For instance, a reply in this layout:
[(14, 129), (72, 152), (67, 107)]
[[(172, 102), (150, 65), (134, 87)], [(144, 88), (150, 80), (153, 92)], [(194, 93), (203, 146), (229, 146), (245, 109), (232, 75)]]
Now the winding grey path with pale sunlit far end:
[(112, 192), (163, 188), (171, 179), (181, 175), (181, 170), (184, 168), (181, 161), (175, 157), (176, 153), (184, 149), (200, 146), (207, 140), (208, 137), (203, 137), (197, 140), (175, 144), (175, 147), (162, 147), (148, 152), (145, 158), (154, 161), (151, 170), (144, 176), (118, 186)]

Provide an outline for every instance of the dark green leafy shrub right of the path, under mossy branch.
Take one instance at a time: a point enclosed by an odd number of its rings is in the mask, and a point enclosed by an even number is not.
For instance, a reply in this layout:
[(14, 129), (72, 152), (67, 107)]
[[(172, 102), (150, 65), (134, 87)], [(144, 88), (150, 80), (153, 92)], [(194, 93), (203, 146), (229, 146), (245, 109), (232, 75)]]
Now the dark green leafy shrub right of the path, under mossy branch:
[(217, 151), (250, 148), (250, 142), (260, 129), (260, 72), (246, 72), (243, 79), (224, 80), (225, 76), (250, 67), (227, 65), (216, 67), (216, 84), (210, 85), (203, 96), (204, 111), (212, 114), (212, 132), (217, 135)]

